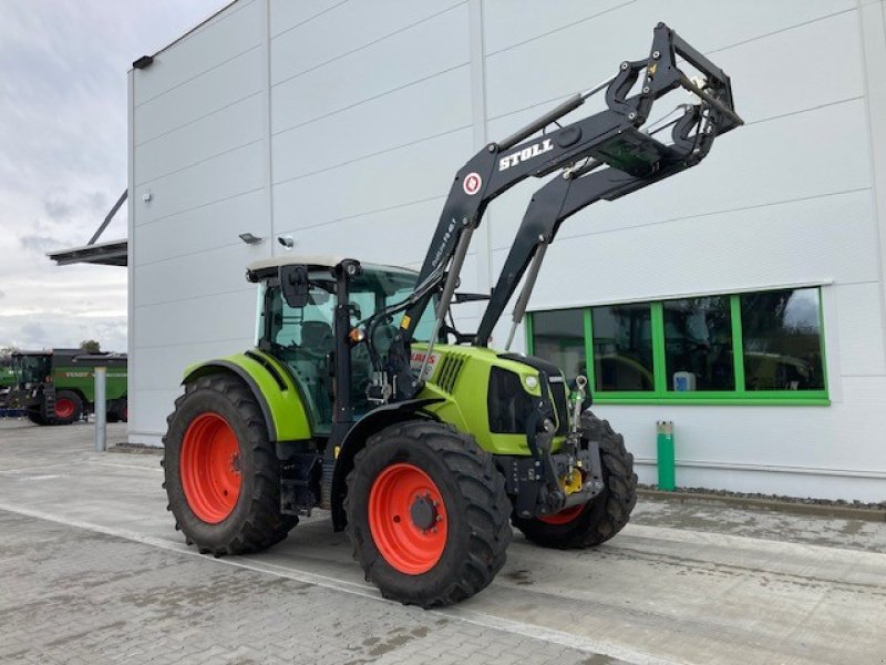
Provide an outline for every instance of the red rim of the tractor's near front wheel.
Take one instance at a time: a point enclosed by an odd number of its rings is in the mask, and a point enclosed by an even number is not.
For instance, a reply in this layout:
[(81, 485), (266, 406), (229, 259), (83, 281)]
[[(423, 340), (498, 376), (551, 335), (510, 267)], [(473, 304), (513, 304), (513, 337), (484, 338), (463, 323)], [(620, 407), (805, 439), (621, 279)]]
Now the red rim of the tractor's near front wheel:
[(412, 464), (388, 467), (369, 492), (369, 529), (379, 553), (401, 573), (421, 575), (446, 549), (446, 508), (436, 483)]

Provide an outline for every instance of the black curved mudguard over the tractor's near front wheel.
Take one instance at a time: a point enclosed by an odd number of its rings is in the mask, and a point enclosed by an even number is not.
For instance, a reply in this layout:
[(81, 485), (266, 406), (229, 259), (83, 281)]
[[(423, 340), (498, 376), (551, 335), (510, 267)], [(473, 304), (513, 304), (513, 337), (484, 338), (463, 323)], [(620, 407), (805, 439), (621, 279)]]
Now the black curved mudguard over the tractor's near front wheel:
[(341, 531), (348, 523), (348, 515), (344, 513), (344, 497), (348, 493), (346, 483), (348, 474), (353, 469), (353, 460), (357, 453), (363, 450), (367, 440), (396, 422), (424, 418), (436, 420), (431, 413), (423, 411), (425, 407), (443, 401), (440, 398), (431, 399), (410, 399), (393, 405), (384, 405), (367, 413), (354, 424), (344, 440), (336, 458), (336, 470), (332, 473), (332, 528)]

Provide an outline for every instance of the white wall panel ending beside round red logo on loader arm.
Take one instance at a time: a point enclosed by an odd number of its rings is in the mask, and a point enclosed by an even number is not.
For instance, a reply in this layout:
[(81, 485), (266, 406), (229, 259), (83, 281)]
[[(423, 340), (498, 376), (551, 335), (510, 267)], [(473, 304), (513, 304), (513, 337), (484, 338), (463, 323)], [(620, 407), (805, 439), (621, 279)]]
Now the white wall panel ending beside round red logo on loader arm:
[(313, 226), (445, 195), (472, 153), (467, 129), (275, 185), (276, 225)]

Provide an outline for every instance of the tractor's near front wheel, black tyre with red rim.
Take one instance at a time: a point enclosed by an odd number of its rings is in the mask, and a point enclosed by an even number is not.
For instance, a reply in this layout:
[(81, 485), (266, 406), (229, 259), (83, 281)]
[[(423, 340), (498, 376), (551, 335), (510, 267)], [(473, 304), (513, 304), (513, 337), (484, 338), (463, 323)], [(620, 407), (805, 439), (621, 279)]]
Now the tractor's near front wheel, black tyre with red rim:
[(437, 607), (467, 598), (505, 563), (511, 502), (492, 457), (440, 422), (393, 424), (348, 475), (348, 536), (385, 598)]

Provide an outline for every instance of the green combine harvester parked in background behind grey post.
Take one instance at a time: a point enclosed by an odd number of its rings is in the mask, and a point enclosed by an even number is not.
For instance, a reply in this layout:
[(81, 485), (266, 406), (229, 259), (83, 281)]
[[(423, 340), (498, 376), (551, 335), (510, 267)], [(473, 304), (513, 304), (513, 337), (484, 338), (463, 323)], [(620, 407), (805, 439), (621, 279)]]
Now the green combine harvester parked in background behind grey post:
[[(17, 351), (12, 354), (14, 383), (7, 408), (24, 409), (37, 424), (71, 424), (93, 412), (95, 370), (79, 365), (80, 349)], [(107, 421), (128, 420), (126, 355), (107, 354)]]

